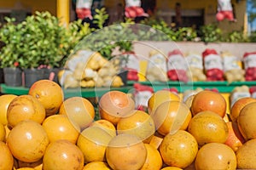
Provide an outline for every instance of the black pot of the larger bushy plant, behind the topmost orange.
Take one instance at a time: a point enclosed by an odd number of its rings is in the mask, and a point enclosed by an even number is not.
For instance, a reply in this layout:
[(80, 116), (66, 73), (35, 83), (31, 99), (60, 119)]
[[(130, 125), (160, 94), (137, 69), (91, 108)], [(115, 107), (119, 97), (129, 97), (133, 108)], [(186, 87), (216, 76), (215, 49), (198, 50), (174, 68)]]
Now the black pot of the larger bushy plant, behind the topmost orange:
[(25, 88), (30, 88), (34, 82), (44, 79), (43, 69), (24, 69)]

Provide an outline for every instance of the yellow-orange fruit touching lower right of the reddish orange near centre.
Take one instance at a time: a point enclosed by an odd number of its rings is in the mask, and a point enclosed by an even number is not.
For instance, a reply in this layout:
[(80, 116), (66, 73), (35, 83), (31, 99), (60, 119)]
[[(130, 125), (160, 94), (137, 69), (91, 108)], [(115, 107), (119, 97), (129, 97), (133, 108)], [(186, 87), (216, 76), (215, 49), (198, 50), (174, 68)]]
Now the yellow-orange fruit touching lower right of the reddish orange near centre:
[(117, 123), (117, 133), (133, 134), (145, 143), (150, 141), (150, 138), (154, 135), (155, 126), (151, 116), (145, 111), (133, 110), (128, 115), (121, 117)]

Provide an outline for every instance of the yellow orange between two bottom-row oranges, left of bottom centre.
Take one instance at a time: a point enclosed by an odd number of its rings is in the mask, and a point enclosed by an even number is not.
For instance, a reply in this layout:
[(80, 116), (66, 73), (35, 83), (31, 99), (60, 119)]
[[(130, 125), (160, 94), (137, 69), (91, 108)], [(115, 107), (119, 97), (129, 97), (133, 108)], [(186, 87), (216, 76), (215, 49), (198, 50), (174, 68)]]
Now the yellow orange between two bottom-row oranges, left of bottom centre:
[(101, 127), (87, 127), (79, 135), (77, 145), (84, 154), (84, 162), (106, 161), (105, 152), (113, 137)]

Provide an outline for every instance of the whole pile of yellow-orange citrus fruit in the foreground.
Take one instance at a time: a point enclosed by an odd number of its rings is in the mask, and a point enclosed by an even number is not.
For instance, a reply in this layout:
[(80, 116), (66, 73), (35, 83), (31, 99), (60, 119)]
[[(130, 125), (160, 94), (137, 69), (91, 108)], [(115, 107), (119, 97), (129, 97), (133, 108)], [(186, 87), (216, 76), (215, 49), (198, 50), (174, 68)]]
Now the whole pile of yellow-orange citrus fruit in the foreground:
[(256, 169), (256, 99), (238, 99), (229, 114), (222, 94), (208, 90), (189, 105), (154, 92), (147, 111), (115, 90), (97, 104), (98, 113), (89, 99), (65, 99), (49, 80), (0, 96), (0, 169)]

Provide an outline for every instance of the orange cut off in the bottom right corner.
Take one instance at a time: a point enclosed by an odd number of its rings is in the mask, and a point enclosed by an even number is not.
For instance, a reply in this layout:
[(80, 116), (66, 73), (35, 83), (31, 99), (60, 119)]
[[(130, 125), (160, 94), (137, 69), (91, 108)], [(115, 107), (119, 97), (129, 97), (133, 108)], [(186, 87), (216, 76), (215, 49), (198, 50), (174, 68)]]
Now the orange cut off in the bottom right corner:
[(236, 151), (237, 168), (256, 169), (256, 139), (247, 140)]

